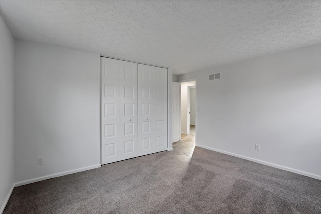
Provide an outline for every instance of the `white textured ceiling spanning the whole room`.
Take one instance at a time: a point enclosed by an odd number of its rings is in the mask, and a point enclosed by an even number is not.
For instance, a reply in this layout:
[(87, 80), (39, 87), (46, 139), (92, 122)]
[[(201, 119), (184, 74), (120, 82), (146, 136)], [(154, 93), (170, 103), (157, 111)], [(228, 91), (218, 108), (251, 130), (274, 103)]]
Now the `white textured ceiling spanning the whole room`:
[(13, 36), (188, 73), (321, 43), (321, 1), (0, 0)]

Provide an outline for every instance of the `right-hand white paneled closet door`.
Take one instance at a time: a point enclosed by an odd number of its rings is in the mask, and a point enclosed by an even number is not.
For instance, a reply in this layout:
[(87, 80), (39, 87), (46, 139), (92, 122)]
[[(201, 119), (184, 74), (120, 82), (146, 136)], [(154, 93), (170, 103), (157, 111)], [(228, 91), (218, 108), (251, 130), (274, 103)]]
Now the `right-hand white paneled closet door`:
[(167, 69), (138, 64), (138, 156), (167, 150)]

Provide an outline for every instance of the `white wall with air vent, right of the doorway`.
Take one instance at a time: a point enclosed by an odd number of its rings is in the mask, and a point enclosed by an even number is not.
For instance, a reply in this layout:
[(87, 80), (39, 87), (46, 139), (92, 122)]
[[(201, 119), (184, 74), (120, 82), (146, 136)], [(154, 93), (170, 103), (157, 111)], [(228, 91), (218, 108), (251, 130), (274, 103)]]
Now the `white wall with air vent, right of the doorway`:
[(321, 179), (321, 45), (178, 76), (190, 78), (199, 146)]

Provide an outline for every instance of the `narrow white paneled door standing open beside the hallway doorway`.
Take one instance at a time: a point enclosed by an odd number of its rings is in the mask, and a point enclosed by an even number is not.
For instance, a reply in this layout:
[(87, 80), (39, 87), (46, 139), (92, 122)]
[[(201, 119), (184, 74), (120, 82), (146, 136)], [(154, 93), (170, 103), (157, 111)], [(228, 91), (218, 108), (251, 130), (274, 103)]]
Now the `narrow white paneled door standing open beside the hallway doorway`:
[(181, 128), (180, 128), (180, 116), (181, 116), (181, 86), (180, 83), (172, 83), (172, 122), (173, 122), (173, 143), (180, 140), (181, 137)]

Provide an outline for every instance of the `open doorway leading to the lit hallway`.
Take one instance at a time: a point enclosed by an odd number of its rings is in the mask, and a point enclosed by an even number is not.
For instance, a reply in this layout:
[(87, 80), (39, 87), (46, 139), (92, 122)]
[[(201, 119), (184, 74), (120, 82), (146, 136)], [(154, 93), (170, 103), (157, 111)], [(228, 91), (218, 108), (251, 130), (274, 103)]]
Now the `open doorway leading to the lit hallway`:
[(196, 81), (181, 82), (181, 139), (196, 142)]

